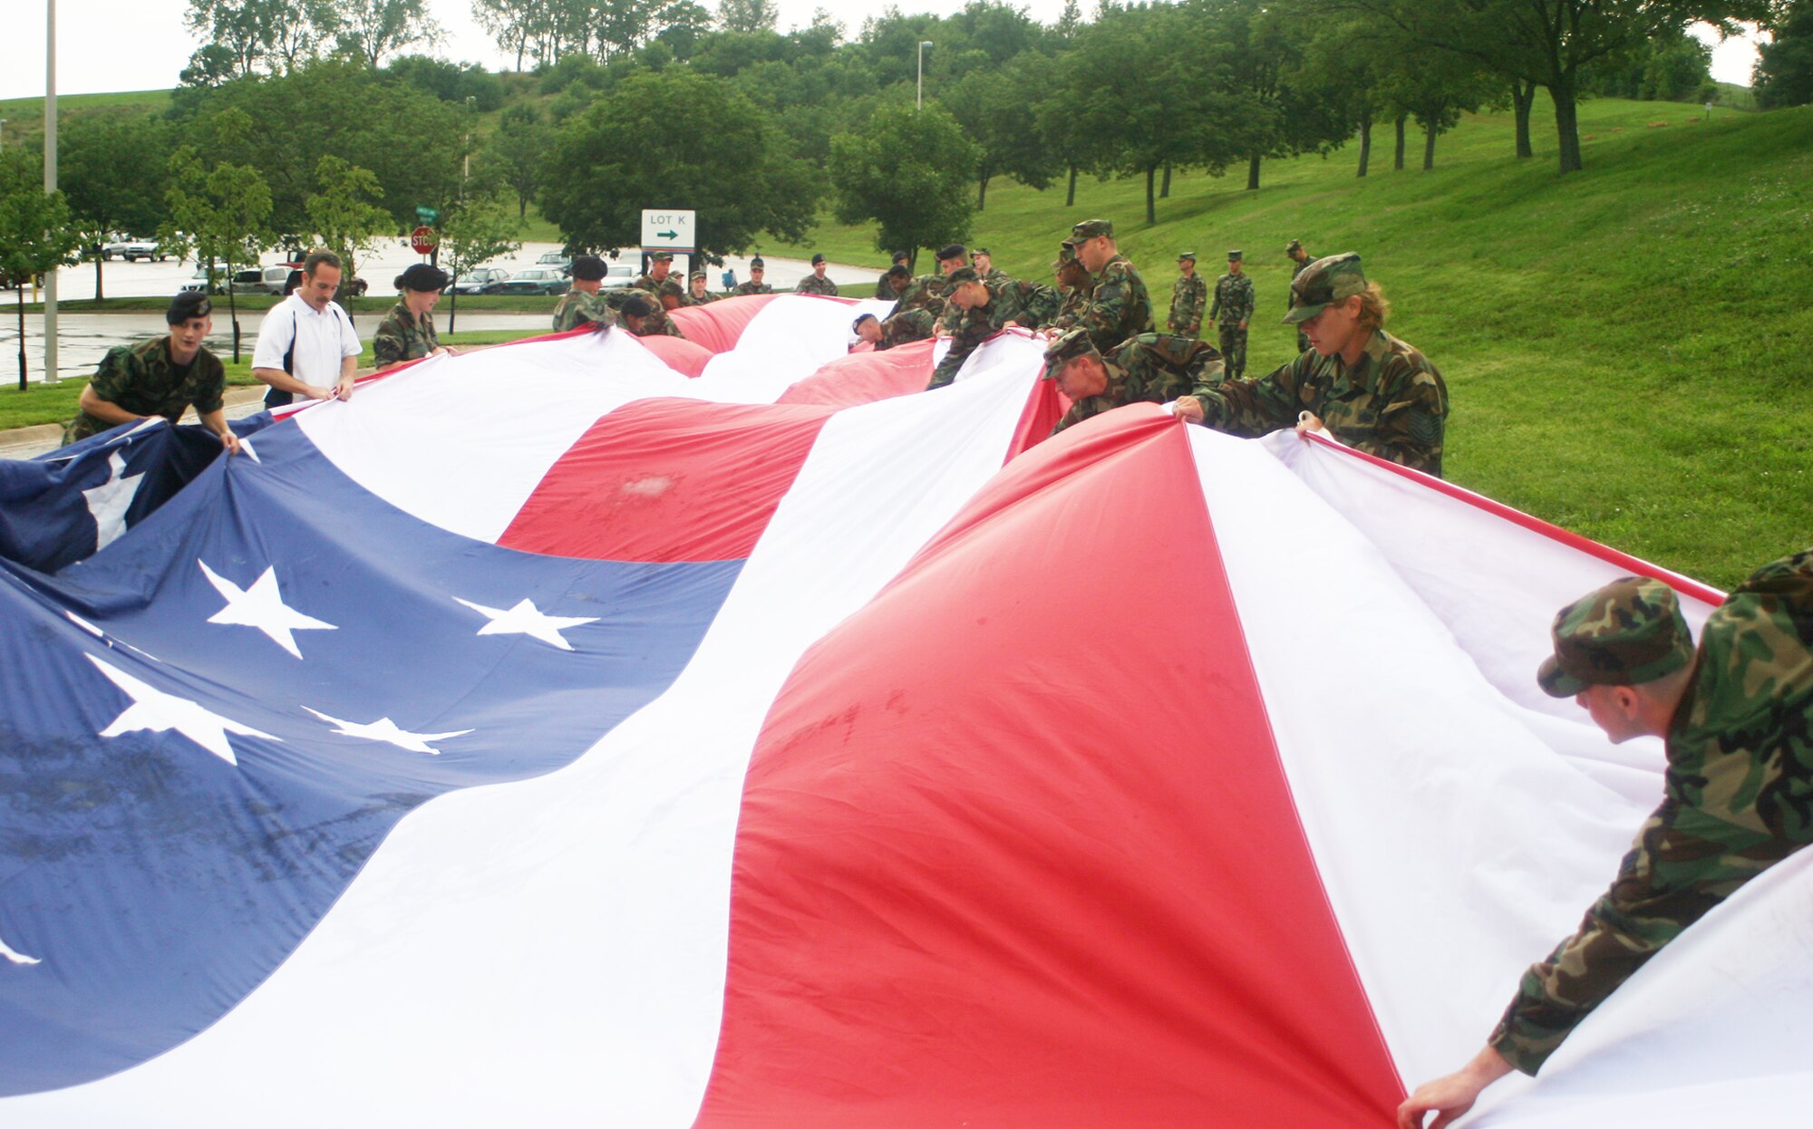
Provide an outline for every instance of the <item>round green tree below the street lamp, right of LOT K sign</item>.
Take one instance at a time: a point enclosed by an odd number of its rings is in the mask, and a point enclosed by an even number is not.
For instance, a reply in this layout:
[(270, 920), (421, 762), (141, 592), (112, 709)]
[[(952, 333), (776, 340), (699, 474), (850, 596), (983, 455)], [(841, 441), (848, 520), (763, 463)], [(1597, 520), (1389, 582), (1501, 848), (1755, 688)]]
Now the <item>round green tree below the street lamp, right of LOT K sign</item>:
[(879, 107), (861, 132), (830, 140), (838, 223), (876, 223), (876, 250), (963, 243), (981, 150), (937, 103)]

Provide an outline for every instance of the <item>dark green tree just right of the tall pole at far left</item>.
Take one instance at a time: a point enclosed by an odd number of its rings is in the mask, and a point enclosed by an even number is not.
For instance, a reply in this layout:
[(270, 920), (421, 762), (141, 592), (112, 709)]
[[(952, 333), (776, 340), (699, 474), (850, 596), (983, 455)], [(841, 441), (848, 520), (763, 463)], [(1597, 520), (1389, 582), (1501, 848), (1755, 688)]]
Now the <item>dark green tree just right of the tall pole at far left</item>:
[[(156, 114), (96, 112), (73, 116), (56, 138), (58, 185), (76, 223), (103, 232), (147, 234), (163, 223), (169, 185), (169, 127)], [(121, 170), (131, 174), (121, 174)], [(105, 297), (100, 239), (94, 297)]]

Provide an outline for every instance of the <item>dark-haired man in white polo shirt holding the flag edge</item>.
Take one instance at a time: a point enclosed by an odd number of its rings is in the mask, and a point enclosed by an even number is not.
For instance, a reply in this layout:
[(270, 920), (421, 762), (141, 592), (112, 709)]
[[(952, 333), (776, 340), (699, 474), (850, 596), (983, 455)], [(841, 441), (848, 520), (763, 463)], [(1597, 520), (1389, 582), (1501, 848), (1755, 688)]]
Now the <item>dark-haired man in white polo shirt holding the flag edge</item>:
[(281, 408), (303, 395), (315, 400), (352, 399), (359, 368), (359, 333), (334, 301), (341, 261), (330, 250), (312, 250), (303, 259), (303, 283), (296, 294), (265, 314), (252, 352), (252, 375), (270, 384), (267, 408)]

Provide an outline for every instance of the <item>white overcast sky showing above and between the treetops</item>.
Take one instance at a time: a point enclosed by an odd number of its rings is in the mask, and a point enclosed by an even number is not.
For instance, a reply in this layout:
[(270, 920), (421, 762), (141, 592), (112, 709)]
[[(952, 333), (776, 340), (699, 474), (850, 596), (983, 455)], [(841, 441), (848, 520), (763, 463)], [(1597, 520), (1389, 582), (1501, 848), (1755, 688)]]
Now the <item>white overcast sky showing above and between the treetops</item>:
[[(183, 31), (187, 0), (54, 0), (56, 2), (56, 91), (94, 94), (105, 91), (156, 91), (174, 87), (196, 42)], [(780, 27), (803, 27), (823, 7), (856, 34), (865, 16), (881, 14), (888, 0), (778, 0)], [(897, 0), (901, 11), (954, 13), (963, 0)], [(7, 34), (0, 40), (0, 98), (44, 94), (45, 0), (5, 0)], [(446, 31), (442, 58), (499, 69), (504, 58), (471, 18), (471, 0), (428, 0)], [(716, 0), (705, 7), (716, 9)], [(1032, 18), (1050, 24), (1064, 0), (1023, 0)], [(1084, 4), (1084, 13), (1095, 4)], [(1733, 40), (1713, 49), (1713, 78), (1748, 83), (1755, 49)]]

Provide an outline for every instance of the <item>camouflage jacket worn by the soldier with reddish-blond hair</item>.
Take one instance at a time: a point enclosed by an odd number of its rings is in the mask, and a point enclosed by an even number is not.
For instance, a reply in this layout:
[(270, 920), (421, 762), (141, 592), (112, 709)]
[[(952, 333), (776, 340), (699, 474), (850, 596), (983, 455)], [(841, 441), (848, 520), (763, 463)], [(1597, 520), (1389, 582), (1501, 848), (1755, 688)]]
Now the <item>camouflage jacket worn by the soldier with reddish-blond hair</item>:
[(1449, 386), (1414, 346), (1376, 330), (1349, 370), (1340, 353), (1309, 350), (1255, 379), (1227, 381), (1198, 393), (1202, 422), (1229, 435), (1294, 428), (1313, 411), (1343, 444), (1441, 477), (1441, 433)]

